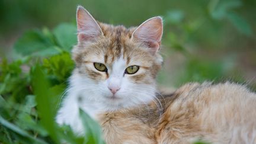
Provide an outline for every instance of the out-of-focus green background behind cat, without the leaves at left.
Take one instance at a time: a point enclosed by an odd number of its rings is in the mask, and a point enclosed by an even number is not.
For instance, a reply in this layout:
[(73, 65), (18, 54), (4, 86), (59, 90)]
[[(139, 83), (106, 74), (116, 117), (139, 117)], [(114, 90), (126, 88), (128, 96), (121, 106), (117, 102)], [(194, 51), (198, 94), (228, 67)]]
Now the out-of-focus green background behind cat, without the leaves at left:
[(88, 9), (98, 21), (126, 27), (161, 15), (165, 23), (161, 51), (165, 65), (158, 79), (163, 85), (217, 79), (255, 84), (253, 0), (1, 0), (1, 56), (17, 57), (12, 46), (28, 28), (51, 30), (64, 22), (75, 24), (77, 5)]

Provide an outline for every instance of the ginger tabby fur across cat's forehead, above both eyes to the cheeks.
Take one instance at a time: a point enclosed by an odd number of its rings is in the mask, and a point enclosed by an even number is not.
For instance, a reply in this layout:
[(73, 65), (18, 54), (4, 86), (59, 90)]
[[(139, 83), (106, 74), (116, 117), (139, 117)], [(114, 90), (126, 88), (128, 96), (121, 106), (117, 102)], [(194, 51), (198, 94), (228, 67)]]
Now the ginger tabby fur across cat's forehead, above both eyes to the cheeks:
[(131, 40), (134, 28), (123, 25), (108, 25), (99, 23), (104, 36), (91, 44), (78, 45), (81, 51), (73, 50), (76, 62), (100, 62), (113, 66), (114, 62), (123, 59), (126, 65), (150, 67), (156, 57), (148, 49)]

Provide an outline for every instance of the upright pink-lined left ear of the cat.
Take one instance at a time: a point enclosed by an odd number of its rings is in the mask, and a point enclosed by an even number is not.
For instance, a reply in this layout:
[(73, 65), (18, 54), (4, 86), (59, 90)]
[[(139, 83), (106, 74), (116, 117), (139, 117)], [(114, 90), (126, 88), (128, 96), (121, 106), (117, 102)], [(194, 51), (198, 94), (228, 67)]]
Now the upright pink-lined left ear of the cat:
[(82, 6), (78, 6), (77, 8), (76, 23), (78, 29), (78, 42), (92, 41), (103, 35), (100, 25)]

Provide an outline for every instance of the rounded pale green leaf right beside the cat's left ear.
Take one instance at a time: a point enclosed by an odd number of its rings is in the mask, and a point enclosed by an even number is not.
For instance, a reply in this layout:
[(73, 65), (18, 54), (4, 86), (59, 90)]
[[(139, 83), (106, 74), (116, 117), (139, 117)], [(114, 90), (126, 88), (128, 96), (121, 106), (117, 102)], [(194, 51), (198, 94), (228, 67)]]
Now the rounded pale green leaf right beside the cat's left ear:
[(76, 44), (76, 27), (72, 24), (60, 24), (54, 30), (57, 43), (65, 50), (71, 50)]

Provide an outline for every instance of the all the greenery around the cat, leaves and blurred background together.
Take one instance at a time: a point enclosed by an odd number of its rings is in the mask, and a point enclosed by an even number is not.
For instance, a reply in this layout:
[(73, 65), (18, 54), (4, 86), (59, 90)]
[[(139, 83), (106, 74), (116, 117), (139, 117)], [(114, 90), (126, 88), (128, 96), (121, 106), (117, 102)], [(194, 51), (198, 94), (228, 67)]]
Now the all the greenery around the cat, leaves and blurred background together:
[(54, 121), (74, 66), (78, 5), (126, 27), (163, 17), (161, 88), (229, 80), (256, 91), (255, 0), (0, 0), (0, 143), (103, 143), (82, 111), (84, 137)]

